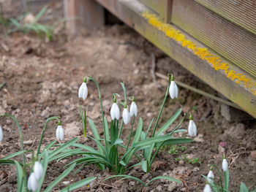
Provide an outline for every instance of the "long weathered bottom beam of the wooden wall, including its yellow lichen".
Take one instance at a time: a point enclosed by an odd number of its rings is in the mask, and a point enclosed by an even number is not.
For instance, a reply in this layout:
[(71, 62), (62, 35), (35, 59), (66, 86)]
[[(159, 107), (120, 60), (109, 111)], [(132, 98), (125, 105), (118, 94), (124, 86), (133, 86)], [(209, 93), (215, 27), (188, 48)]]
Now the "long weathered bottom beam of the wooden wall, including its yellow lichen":
[[(217, 53), (207, 50), (203, 44), (175, 26), (162, 23), (155, 12), (138, 0), (97, 1), (179, 64), (256, 118), (256, 102), (253, 102), (256, 99), (254, 77)], [(214, 57), (219, 57), (222, 62), (220, 66), (209, 63), (209, 59)], [(175, 69), (170, 69), (170, 72), (174, 71)]]

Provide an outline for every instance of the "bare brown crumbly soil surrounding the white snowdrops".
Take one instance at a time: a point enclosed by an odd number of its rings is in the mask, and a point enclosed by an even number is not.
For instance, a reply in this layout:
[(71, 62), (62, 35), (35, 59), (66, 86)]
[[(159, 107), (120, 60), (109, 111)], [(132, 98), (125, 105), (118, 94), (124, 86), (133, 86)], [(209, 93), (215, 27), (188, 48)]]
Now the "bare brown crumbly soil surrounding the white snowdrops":
[[(9, 51), (2, 47), (3, 44)], [(80, 143), (94, 147), (91, 139), (83, 138), (78, 111), (79, 104), (82, 104), (88, 112), (88, 117), (97, 125), (99, 133), (103, 134), (94, 83), (89, 82), (88, 99), (78, 99), (80, 83), (83, 77), (89, 74), (99, 82), (108, 121), (112, 93), (119, 93), (123, 100), (120, 82), (124, 81), (128, 96), (134, 95), (137, 99), (138, 116), (143, 118), (146, 129), (151, 118), (157, 118), (167, 85), (164, 80), (157, 79), (162, 85), (162, 89), (158, 89), (152, 82), (152, 53), (156, 57), (157, 72), (172, 72), (177, 80), (216, 93), (127, 26), (106, 26), (92, 34), (77, 37), (59, 31), (53, 42), (45, 42), (35, 34), (16, 33), (7, 37), (1, 36), (0, 83), (7, 82), (7, 85), (0, 91), (0, 114), (10, 113), (18, 118), (24, 141), (31, 141), (29, 145), (25, 145), (26, 149), (36, 149), (45, 120), (53, 115), (61, 116), (65, 142), (73, 137), (79, 137)], [(178, 99), (167, 99), (159, 125), (163, 125), (180, 107), (184, 112), (192, 112), (198, 133), (195, 142), (184, 145), (187, 149), (184, 152), (179, 151), (178, 155), (168, 153), (168, 148), (162, 150), (157, 155), (154, 170), (149, 174), (144, 174), (138, 167), (131, 169), (127, 174), (139, 177), (143, 181), (159, 175), (173, 175), (184, 181), (182, 185), (175, 185), (169, 181), (156, 180), (146, 191), (202, 191), (205, 180), (201, 174), (208, 173), (208, 164), (215, 164), (221, 168), (222, 153), (218, 151), (219, 142), (227, 142), (230, 191), (238, 191), (241, 182), (246, 183), (251, 190), (254, 189), (256, 162), (252, 161), (250, 153), (256, 150), (255, 120), (227, 122), (220, 115), (219, 103), (179, 88)], [(187, 128), (188, 121), (185, 120), (181, 128)], [(20, 146), (15, 124), (7, 118), (0, 118), (0, 124), (4, 131), (4, 139), (0, 143), (0, 158), (3, 158), (20, 150)], [(169, 131), (177, 124), (178, 120)], [(45, 146), (55, 139), (56, 126), (56, 122), (49, 123), (42, 145)], [(92, 136), (91, 128), (87, 131), (88, 135)], [(124, 140), (127, 139), (128, 131), (129, 126), (124, 126)], [(199, 158), (200, 164), (176, 161), (175, 158), (182, 154), (186, 154), (188, 158)], [(63, 171), (63, 166), (75, 158), (77, 157), (50, 163), (43, 186), (46, 187)], [(27, 160), (30, 160), (29, 156)], [(0, 178), (0, 191), (16, 191), (15, 168), (0, 166), (0, 172), (1, 175), (7, 173)], [(69, 174), (65, 180), (75, 182), (80, 180), (80, 177), (97, 177), (91, 185), (84, 186), (78, 191), (142, 190), (142, 186), (133, 180), (116, 179), (100, 183), (110, 174), (113, 173), (100, 171), (91, 165), (80, 170), (78, 174)], [(214, 174), (217, 177), (216, 170)], [(64, 188), (62, 183), (57, 185), (54, 191), (61, 188)]]

